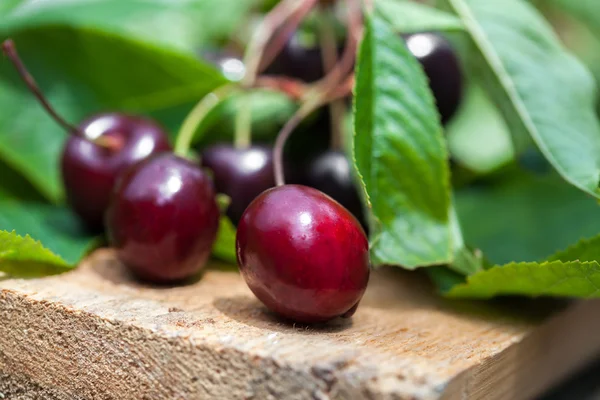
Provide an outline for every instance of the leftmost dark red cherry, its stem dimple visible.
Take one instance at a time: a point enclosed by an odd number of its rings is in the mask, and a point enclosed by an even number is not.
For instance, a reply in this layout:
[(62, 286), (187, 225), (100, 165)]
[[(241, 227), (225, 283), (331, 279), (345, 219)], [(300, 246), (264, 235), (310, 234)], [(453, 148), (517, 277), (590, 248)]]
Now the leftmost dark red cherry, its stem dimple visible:
[[(79, 126), (85, 139), (71, 135), (61, 159), (67, 201), (85, 224), (101, 231), (117, 175), (128, 166), (171, 146), (155, 122), (129, 115), (100, 114)], [(115, 139), (117, 148), (93, 143), (99, 137)]]

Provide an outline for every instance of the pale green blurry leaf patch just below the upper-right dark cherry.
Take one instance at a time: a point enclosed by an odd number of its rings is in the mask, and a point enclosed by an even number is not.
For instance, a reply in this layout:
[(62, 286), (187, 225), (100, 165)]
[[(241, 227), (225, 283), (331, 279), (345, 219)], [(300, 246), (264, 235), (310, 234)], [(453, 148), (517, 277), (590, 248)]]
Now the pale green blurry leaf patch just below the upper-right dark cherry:
[(487, 174), (514, 158), (510, 131), (478, 84), (469, 85), (461, 112), (446, 131), (452, 157), (471, 171)]

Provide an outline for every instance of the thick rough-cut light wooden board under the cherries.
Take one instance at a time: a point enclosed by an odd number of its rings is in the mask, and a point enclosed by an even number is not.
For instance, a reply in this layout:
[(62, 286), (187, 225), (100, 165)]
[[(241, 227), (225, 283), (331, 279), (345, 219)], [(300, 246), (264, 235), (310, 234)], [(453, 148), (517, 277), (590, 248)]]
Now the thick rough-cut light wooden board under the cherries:
[(527, 399), (600, 351), (598, 301), (447, 301), (398, 269), (316, 327), (278, 320), (235, 271), (147, 287), (109, 250), (0, 289), (5, 399)]

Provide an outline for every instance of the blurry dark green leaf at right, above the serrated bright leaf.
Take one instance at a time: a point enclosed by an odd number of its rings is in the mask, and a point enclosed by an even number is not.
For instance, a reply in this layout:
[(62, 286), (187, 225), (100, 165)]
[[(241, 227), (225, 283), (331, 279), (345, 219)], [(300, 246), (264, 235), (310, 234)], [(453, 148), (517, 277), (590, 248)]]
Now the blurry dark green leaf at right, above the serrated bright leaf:
[(520, 173), (455, 199), (465, 241), (494, 264), (544, 260), (599, 231), (597, 202), (554, 175)]

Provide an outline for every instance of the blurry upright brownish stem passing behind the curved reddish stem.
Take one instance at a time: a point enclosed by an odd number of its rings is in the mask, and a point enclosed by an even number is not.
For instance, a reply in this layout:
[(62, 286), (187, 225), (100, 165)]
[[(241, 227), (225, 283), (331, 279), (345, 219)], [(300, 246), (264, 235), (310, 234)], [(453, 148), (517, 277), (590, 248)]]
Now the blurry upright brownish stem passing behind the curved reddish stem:
[[(337, 41), (331, 18), (331, 8), (322, 6), (319, 21), (319, 42), (324, 70), (329, 73), (337, 64)], [(336, 100), (329, 103), (329, 118), (331, 120), (331, 148), (339, 150), (343, 145), (342, 118), (344, 115), (344, 101)]]

